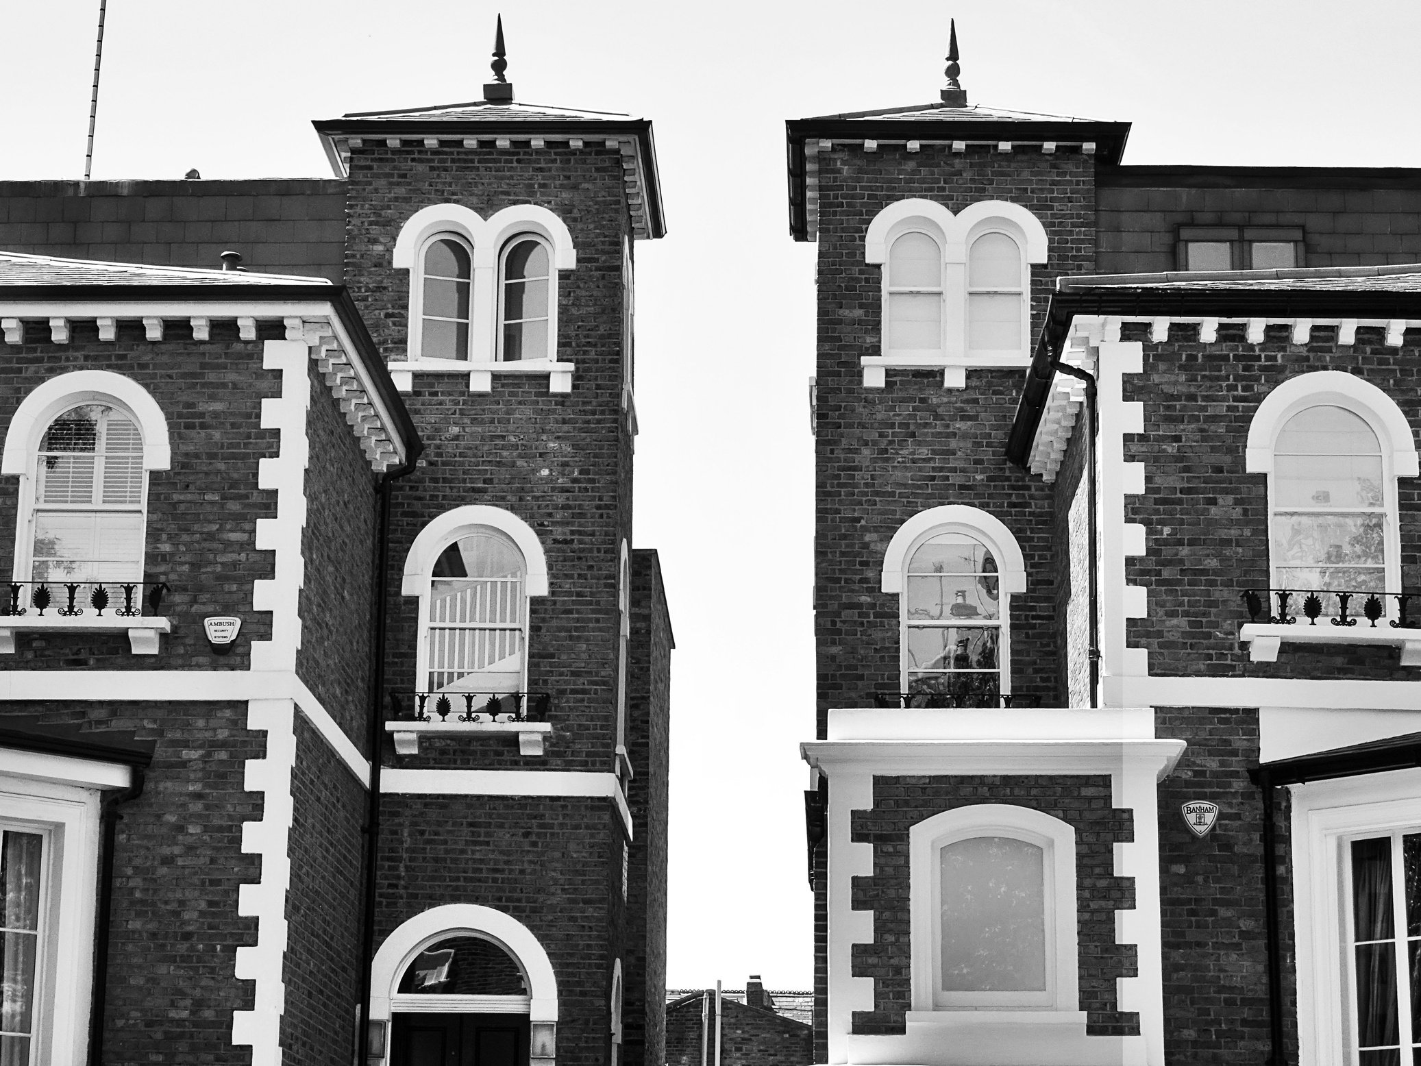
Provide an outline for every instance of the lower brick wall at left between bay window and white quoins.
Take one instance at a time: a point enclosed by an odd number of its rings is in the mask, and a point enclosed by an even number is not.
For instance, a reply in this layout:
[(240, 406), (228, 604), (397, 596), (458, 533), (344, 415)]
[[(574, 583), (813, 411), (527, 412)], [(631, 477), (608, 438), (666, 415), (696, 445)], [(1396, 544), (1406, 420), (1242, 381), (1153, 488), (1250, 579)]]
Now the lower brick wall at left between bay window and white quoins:
[(43, 715), (156, 742), (144, 793), (119, 807), (115, 833), (105, 1062), (250, 1062), (232, 1045), (232, 1012), (252, 1009), (253, 985), (233, 964), (257, 937), (257, 920), (237, 915), (237, 885), (261, 876), (260, 857), (242, 850), (242, 823), (261, 817), (243, 770), (266, 752), (246, 729), (246, 704), (70, 708), (3, 702), (0, 721)]

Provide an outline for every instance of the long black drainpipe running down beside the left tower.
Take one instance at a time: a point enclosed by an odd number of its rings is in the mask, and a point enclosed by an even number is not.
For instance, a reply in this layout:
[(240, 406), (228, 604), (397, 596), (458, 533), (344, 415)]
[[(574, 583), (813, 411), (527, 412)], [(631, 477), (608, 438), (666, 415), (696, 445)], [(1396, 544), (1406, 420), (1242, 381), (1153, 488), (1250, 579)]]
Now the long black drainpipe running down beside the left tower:
[[(375, 876), (379, 867), (379, 752), (385, 739), (385, 642), (389, 624), (388, 583), (389, 583), (389, 503), (394, 482), (415, 469), (414, 461), (406, 462), (394, 470), (381, 475), (377, 488), (379, 532), (375, 542), (375, 620), (374, 620), (374, 677), (371, 681), (371, 709), (369, 709), (369, 792), (365, 802), (365, 890), (364, 890), (364, 927), (361, 928), (360, 944), (360, 1002), (358, 1018), (361, 1021), (357, 1032), (355, 1066), (369, 1066), (371, 1053), (371, 1021), (369, 1021), (369, 992), (371, 992), (371, 964), (375, 961)], [(381, 1059), (389, 1050), (388, 1033), (379, 1040)]]

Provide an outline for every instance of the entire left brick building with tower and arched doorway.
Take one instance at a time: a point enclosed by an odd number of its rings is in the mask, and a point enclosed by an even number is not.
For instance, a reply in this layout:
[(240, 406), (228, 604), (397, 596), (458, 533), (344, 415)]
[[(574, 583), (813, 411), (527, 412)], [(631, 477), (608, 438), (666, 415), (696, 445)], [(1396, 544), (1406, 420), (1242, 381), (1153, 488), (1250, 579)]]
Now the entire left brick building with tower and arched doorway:
[(317, 131), (0, 183), (0, 1059), (661, 1066), (651, 124)]

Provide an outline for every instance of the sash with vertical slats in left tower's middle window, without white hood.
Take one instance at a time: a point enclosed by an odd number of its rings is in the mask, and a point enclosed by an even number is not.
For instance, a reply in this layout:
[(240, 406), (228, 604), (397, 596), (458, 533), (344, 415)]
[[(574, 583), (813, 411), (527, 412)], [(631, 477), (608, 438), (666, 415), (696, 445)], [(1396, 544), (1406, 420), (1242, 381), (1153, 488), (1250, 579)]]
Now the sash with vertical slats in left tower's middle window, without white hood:
[(523, 691), (526, 576), (523, 553), (497, 529), (475, 527), (445, 547), (429, 576), (425, 691)]

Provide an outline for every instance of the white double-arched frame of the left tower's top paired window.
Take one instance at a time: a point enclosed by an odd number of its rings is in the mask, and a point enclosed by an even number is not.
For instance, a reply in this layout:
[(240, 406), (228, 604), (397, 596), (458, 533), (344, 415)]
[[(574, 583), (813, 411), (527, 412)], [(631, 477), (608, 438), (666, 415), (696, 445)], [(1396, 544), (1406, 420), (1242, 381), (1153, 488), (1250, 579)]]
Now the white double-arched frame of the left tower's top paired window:
[[(504, 247), (513, 237), (531, 235), (543, 242), (551, 253), (550, 290), (557, 290), (557, 276), (577, 267), (577, 249), (567, 225), (547, 208), (536, 203), (513, 203), (487, 219), (460, 203), (433, 203), (421, 208), (401, 226), (395, 239), (391, 263), (398, 270), (409, 271), (409, 337), (406, 343), (408, 362), (391, 364), (392, 372), (412, 370), (456, 371), (469, 367), (450, 365), (450, 360), (422, 360), (418, 348), (419, 324), (418, 298), (422, 289), (422, 252), (429, 240), (441, 233), (455, 235), (468, 242), (473, 252), (473, 283), (470, 286), (469, 360), (470, 365), (492, 365), (499, 350), (499, 262)], [(551, 318), (556, 320), (557, 301), (550, 297)], [(556, 321), (549, 325), (549, 361), (557, 358)], [(460, 361), (462, 362), (462, 361)], [(408, 367), (408, 370), (401, 370)], [(526, 367), (523, 370), (527, 370)], [(564, 391), (564, 389), (558, 389)]]

